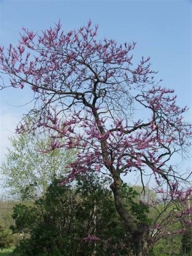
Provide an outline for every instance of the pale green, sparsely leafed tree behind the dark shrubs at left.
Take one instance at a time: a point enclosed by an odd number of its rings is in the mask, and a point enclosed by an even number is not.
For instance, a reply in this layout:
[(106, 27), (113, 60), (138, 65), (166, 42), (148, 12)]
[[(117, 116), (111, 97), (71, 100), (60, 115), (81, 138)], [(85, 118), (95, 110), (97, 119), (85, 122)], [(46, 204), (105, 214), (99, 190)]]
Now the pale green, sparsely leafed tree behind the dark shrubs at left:
[(37, 199), (44, 195), (54, 178), (65, 176), (66, 165), (75, 159), (75, 150), (46, 152), (51, 138), (45, 132), (22, 133), (10, 138), (6, 161), (1, 166), (4, 187), (11, 196)]

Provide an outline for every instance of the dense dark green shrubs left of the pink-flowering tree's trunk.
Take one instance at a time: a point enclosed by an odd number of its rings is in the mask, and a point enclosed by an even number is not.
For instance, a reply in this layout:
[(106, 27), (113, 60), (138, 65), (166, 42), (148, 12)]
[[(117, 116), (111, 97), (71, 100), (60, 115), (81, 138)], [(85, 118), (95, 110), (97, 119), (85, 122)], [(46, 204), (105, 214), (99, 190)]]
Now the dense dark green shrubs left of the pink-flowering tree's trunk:
[(59, 186), (55, 179), (34, 206), (15, 206), (11, 228), (25, 233), (16, 249), (19, 255), (127, 255), (130, 236), (106, 186), (107, 180), (93, 174), (78, 178), (75, 185)]

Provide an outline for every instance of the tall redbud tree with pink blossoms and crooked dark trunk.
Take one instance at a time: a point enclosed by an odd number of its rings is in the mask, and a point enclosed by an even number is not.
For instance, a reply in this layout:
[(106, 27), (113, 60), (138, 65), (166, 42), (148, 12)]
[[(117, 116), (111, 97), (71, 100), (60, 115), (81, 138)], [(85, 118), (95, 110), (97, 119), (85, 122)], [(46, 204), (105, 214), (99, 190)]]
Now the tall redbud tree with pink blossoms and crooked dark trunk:
[[(0, 48), (0, 69), (10, 78), (8, 86), (29, 86), (34, 93), (31, 130), (41, 127), (52, 134), (47, 150), (78, 149), (63, 184), (85, 172), (108, 174), (135, 255), (149, 255), (153, 231), (127, 210), (122, 176), (129, 180), (131, 172), (137, 173), (145, 189), (143, 177), (153, 175), (164, 202), (185, 201), (191, 188), (184, 186), (187, 177), (174, 170), (170, 159), (190, 146), (191, 126), (182, 118), (187, 108), (175, 104), (173, 90), (154, 81), (149, 58), (133, 65), (134, 42), (98, 41), (97, 29), (91, 22), (68, 33), (61, 31), (60, 22), (41, 34), (23, 28), (17, 46)], [(25, 123), (18, 131), (23, 129)], [(159, 228), (157, 220), (154, 228)]]

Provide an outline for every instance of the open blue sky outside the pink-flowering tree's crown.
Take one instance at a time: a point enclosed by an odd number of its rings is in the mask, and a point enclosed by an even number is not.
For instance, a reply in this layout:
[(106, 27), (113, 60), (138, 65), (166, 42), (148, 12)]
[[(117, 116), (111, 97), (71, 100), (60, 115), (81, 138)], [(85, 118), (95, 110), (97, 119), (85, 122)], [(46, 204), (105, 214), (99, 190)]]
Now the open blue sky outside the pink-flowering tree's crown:
[[(22, 26), (35, 32), (49, 28), (59, 19), (64, 31), (78, 28), (91, 19), (99, 25), (99, 38), (119, 43), (137, 42), (135, 62), (151, 57), (156, 79), (175, 90), (178, 104), (191, 107), (192, 1), (11, 1), (0, 0), (1, 45), (17, 44)], [(7, 81), (6, 81), (7, 82)], [(8, 137), (13, 134), (32, 97), (28, 90), (11, 89), (1, 93), (1, 159), (5, 159)], [(11, 106), (14, 105), (14, 106)], [(191, 119), (191, 110), (186, 115)]]

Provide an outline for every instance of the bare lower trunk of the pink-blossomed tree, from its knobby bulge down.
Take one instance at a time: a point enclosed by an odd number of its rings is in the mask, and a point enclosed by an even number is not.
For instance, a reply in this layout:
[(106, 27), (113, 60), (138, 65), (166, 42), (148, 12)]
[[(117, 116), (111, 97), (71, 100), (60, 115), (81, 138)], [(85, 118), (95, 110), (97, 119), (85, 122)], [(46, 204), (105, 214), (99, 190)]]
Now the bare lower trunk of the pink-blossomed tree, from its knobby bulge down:
[(137, 225), (133, 217), (127, 212), (126, 207), (123, 203), (123, 198), (121, 196), (121, 186), (123, 181), (119, 177), (114, 178), (114, 183), (110, 185), (113, 191), (115, 199), (115, 207), (123, 219), (125, 226), (129, 229), (132, 235), (132, 241), (134, 244), (134, 255), (135, 256), (150, 256), (148, 238), (149, 238), (149, 227), (147, 223), (141, 223)]

